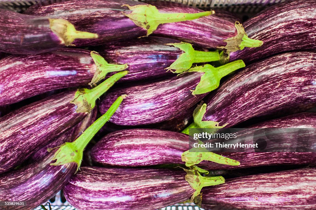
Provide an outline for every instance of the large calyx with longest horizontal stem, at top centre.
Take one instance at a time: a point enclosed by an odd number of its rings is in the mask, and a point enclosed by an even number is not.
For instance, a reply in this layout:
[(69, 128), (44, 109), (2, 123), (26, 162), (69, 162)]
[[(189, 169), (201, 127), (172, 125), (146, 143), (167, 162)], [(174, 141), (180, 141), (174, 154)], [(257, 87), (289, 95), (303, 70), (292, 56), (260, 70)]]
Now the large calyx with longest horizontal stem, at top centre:
[(132, 10), (129, 14), (124, 12), (123, 14), (130, 18), (135, 25), (146, 29), (147, 36), (154, 32), (160, 24), (194, 20), (215, 13), (214, 11), (199, 13), (160, 13), (155, 6), (150, 4), (135, 6), (124, 4), (122, 7), (128, 7)]

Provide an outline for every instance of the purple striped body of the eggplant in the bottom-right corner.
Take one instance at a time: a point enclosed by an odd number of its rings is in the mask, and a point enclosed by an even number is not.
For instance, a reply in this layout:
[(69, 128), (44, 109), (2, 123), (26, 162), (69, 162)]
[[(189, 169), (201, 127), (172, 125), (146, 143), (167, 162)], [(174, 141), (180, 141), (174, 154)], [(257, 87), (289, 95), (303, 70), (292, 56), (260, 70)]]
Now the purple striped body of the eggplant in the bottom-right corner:
[(316, 169), (303, 168), (227, 179), (204, 188), (202, 208), (315, 209)]

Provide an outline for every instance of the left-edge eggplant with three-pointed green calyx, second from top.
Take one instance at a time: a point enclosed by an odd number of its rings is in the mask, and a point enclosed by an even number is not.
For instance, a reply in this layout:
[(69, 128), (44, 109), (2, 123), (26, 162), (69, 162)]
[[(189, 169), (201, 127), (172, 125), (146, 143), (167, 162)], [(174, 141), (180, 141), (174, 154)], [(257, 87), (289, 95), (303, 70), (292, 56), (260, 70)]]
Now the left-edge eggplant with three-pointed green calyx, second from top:
[(88, 85), (93, 78), (127, 68), (126, 64), (108, 64), (96, 52), (81, 49), (11, 55), (1, 60), (0, 66), (0, 106), (50, 90)]

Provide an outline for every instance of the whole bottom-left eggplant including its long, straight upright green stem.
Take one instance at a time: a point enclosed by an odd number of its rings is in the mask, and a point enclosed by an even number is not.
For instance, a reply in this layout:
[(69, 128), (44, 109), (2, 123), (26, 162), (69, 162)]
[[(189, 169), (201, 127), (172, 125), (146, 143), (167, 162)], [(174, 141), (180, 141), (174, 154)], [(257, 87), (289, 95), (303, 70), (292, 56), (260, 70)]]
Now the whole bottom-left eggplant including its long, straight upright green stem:
[[(92, 139), (95, 133), (102, 127), (119, 107), (123, 100), (120, 96), (80, 137), (73, 143), (65, 143), (59, 149), (54, 149), (43, 159), (33, 164), (22, 167), (16, 171), (6, 172), (0, 175), (0, 201), (23, 202), (21, 206), (4, 206), (5, 210), (32, 210), (36, 206), (47, 201), (69, 181), (80, 166), (83, 149)], [(65, 149), (68, 148), (68, 149)], [(69, 153), (71, 158), (69, 158)], [(62, 156), (59, 156), (62, 155)], [(78, 157), (74, 158), (74, 157)], [(63, 157), (67, 161), (59, 164)], [(81, 157), (81, 159), (80, 159)], [(53, 160), (56, 160), (53, 161)]]

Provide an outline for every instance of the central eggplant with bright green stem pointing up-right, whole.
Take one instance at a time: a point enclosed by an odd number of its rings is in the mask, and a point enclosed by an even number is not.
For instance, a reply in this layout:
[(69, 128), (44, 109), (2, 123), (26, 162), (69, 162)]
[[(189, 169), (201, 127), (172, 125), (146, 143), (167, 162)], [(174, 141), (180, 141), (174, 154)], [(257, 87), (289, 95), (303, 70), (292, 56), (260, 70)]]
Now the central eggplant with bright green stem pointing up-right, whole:
[(110, 122), (117, 125), (163, 122), (191, 108), (206, 96), (207, 92), (216, 89), (222, 77), (244, 66), (241, 60), (217, 68), (206, 64), (193, 67), (178, 77), (115, 88), (100, 100), (99, 110), (101, 114), (104, 113), (113, 98), (127, 94)]

